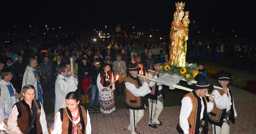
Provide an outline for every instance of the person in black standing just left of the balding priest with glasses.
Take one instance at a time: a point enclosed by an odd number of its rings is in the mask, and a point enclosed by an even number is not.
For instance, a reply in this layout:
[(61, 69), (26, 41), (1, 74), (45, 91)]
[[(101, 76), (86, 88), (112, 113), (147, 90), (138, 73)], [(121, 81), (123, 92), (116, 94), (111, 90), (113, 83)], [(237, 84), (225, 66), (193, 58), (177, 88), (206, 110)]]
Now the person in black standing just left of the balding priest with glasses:
[(20, 93), (22, 88), (22, 80), (23, 80), (23, 74), (25, 73), (25, 69), (27, 68), (26, 63), (23, 61), (22, 56), (18, 56), (18, 62), (14, 64), (14, 74), (16, 77), (16, 84), (14, 85), (17, 89), (16, 91)]

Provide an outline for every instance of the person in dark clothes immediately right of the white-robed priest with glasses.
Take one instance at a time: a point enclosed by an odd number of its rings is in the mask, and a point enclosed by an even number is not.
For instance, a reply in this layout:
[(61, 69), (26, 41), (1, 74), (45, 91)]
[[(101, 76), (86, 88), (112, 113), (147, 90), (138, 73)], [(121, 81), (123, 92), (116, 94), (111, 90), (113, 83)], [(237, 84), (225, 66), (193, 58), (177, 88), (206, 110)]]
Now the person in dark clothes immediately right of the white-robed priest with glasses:
[(41, 70), (41, 86), (44, 95), (50, 95), (50, 90), (52, 89), (52, 62), (49, 61), (48, 56), (43, 57), (43, 62), (39, 64)]

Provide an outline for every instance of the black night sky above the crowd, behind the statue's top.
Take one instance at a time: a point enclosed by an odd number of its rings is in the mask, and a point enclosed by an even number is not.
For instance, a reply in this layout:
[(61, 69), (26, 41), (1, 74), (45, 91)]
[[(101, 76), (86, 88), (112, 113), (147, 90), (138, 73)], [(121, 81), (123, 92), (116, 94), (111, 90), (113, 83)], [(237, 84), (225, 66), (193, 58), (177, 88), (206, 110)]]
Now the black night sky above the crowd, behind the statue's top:
[(199, 23), (199, 30), (231, 33), (232, 29), (243, 36), (255, 35), (255, 9), (243, 1), (4, 1), (1, 2), (1, 29), (10, 25), (33, 27), (62, 26), (66, 29), (114, 29), (129, 22), (136, 30), (170, 32), (176, 2), (185, 2), (190, 21)]

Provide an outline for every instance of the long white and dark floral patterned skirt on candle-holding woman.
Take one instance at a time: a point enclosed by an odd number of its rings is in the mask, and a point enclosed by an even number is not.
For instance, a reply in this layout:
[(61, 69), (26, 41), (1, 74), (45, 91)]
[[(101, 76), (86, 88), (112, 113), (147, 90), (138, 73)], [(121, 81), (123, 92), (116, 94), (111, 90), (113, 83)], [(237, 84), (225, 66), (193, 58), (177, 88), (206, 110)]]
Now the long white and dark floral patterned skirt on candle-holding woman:
[(107, 91), (100, 91), (100, 111), (104, 114), (109, 114), (114, 110), (114, 93), (111, 93), (110, 89)]

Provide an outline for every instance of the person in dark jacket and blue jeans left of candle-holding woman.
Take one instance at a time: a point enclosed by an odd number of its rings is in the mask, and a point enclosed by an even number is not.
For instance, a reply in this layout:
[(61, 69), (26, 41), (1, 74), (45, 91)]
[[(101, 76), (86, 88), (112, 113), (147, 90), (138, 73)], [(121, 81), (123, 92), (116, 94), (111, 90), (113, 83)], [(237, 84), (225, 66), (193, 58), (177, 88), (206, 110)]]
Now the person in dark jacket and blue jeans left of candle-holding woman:
[(100, 109), (99, 106), (99, 90), (98, 90), (98, 86), (97, 86), (97, 77), (99, 75), (99, 73), (102, 71), (102, 66), (101, 66), (101, 62), (99, 61), (94, 61), (94, 66), (91, 66), (90, 71), (89, 71), (89, 76), (91, 79), (91, 97), (90, 97), (90, 110), (92, 110), (92, 108), (94, 108), (94, 100), (96, 97), (96, 102), (95, 102), (95, 108)]

